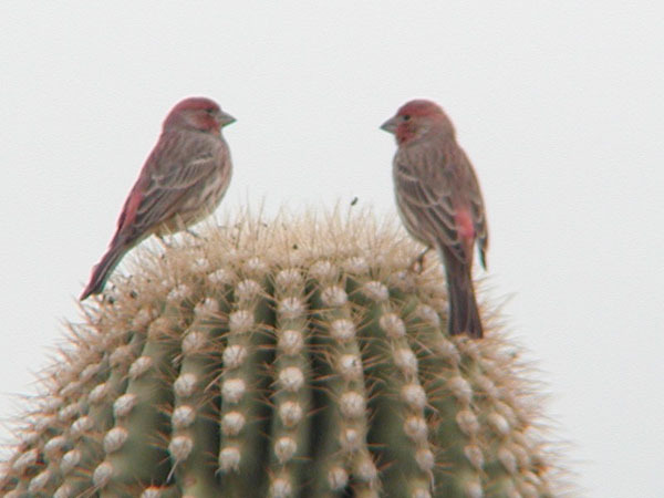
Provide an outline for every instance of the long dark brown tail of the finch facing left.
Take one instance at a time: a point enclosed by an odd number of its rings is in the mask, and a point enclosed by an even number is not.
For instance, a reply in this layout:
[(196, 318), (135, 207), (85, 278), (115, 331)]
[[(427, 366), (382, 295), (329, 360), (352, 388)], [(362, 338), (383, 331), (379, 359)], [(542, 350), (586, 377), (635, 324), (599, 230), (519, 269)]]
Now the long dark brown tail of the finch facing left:
[(459, 261), (448, 249), (443, 248), (442, 252), (447, 276), (449, 335), (465, 332), (471, 339), (481, 339), (484, 330), (475, 299), (470, 267)]

